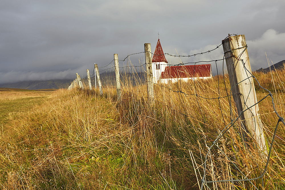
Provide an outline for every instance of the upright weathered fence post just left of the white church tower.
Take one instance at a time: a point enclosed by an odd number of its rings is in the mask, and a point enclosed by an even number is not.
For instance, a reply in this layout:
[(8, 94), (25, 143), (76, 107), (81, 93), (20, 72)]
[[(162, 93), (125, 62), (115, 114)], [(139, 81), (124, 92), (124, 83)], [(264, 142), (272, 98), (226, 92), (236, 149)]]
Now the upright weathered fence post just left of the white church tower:
[(146, 84), (147, 84), (147, 94), (148, 101), (150, 104), (154, 103), (154, 93), (153, 93), (153, 76), (152, 76), (152, 63), (151, 63), (151, 49), (150, 44), (144, 44), (144, 56), (146, 63)]

